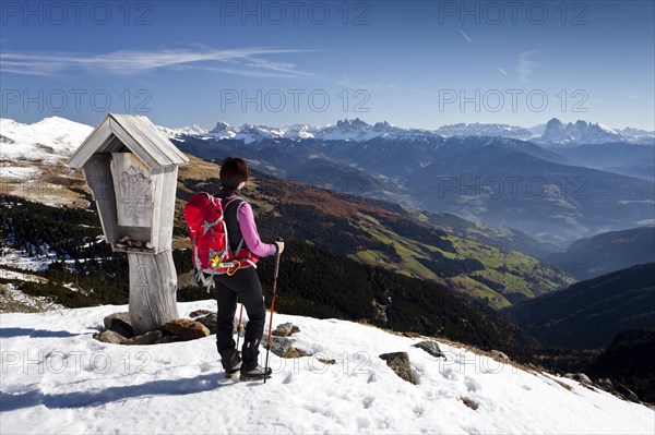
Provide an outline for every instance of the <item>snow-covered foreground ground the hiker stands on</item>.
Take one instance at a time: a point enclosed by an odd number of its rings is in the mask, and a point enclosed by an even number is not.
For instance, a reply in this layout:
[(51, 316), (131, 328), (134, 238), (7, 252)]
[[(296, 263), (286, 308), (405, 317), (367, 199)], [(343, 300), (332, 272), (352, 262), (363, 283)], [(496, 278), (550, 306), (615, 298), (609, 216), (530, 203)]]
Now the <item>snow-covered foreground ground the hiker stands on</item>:
[[(214, 301), (180, 303), (182, 316)], [(653, 433), (655, 412), (567, 378), (528, 373), (373, 327), (276, 315), (312, 357), (271, 355), (262, 383), (226, 379), (214, 336), (126, 347), (92, 338), (127, 306), (2, 314), (0, 432), (12, 433)], [(409, 353), (420, 385), (379, 354)], [(322, 359), (334, 359), (324, 364)], [(568, 386), (568, 387), (565, 387)], [(463, 399), (478, 403), (468, 408)]]

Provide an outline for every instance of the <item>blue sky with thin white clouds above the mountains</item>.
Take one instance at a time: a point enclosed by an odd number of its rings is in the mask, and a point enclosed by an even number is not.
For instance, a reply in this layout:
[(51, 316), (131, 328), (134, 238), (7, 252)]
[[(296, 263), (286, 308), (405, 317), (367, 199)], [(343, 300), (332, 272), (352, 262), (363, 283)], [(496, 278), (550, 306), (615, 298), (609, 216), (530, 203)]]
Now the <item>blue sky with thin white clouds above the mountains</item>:
[(655, 130), (653, 1), (4, 1), (1, 116)]

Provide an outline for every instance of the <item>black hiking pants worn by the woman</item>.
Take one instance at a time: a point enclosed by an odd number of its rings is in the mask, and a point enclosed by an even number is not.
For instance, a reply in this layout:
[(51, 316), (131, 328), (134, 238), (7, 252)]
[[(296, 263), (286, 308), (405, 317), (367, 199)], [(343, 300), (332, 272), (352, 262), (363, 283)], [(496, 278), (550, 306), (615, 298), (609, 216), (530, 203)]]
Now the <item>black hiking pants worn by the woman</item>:
[[(250, 371), (258, 365), (259, 343), (264, 333), (266, 307), (262, 285), (254, 267), (245, 267), (237, 270), (231, 277), (215, 275), (216, 301), (218, 303), (216, 325), (216, 347), (224, 362), (229, 361), (236, 351), (233, 339), (233, 327), (237, 300), (243, 304), (248, 314), (246, 337), (243, 339), (242, 371)], [(224, 363), (225, 366), (225, 363)]]

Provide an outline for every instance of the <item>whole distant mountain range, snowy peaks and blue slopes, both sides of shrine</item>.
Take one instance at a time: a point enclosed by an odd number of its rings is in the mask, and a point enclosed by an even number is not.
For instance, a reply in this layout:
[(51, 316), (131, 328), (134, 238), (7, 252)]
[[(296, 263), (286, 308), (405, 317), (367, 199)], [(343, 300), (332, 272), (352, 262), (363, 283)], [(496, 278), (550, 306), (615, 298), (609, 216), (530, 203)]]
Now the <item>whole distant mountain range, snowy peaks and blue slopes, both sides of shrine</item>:
[[(52, 126), (43, 128), (48, 124)], [(559, 125), (553, 120), (550, 124)], [(577, 130), (586, 125), (592, 132), (607, 133), (595, 124), (576, 124)], [(481, 132), (479, 124), (471, 125)], [(36, 136), (25, 135), (29, 129), (41, 130)], [(34, 176), (34, 168), (24, 162), (57, 158), (48, 156), (71, 146), (66, 144), (84, 137), (90, 129), (61, 118), (32, 125), (2, 120), (0, 158), (4, 162), (0, 169), (8, 189), (14, 185), (12, 178)], [(655, 157), (655, 147), (650, 145), (546, 147), (498, 135), (444, 137), (359, 119), (327, 128), (236, 129), (219, 123), (206, 133), (198, 125), (163, 131), (180, 149), (203, 158), (240, 155), (252, 168), (290, 181), (520, 230), (541, 243), (529, 252), (533, 255), (564, 249), (599, 232), (655, 223), (655, 184), (653, 179), (639, 178), (648, 172), (644, 167), (648, 157)], [(548, 131), (546, 125), (544, 134)], [(617, 155), (622, 158), (614, 158)], [(610, 161), (620, 168), (598, 169)], [(642, 166), (631, 173), (640, 161)]]

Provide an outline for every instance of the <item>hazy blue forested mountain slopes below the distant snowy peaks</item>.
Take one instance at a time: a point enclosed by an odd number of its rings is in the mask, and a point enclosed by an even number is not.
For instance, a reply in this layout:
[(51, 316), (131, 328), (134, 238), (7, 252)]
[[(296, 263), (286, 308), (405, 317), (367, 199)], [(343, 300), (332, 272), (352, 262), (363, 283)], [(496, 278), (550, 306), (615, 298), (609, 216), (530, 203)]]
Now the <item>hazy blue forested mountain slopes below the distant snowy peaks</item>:
[[(503, 136), (443, 137), (386, 128), (386, 133), (355, 141), (372, 132), (357, 124), (341, 124), (341, 140), (281, 135), (248, 144), (237, 136), (172, 141), (203, 158), (240, 155), (276, 177), (515, 228), (559, 249), (598, 232), (655, 223), (652, 179), (631, 173), (630, 166), (610, 171), (585, 162), (585, 156), (596, 156), (605, 144), (586, 145), (584, 155), (568, 156), (558, 147)], [(612, 146), (627, 164), (655, 156), (652, 146)]]

